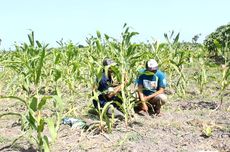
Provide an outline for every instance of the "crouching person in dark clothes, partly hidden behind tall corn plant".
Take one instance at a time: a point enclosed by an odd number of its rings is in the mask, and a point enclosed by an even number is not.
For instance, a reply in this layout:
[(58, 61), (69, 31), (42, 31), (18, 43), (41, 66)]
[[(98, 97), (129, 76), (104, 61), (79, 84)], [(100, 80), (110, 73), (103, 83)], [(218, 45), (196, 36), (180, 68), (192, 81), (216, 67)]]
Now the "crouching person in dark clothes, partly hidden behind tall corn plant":
[[(114, 82), (112, 79), (113, 70), (111, 67), (115, 65), (116, 63), (111, 59), (105, 59), (103, 61), (104, 70), (102, 73), (102, 78), (98, 80), (99, 83), (98, 83), (98, 88), (97, 88), (97, 90), (100, 92), (98, 96), (98, 101), (99, 101), (101, 108), (104, 107), (105, 104), (110, 101), (117, 101), (120, 104), (122, 104), (122, 100), (118, 97), (121, 91), (122, 85), (121, 84), (114, 85)], [(107, 75), (105, 72), (105, 68), (108, 68)], [(93, 100), (93, 104), (95, 108), (98, 108), (98, 102), (96, 100)], [(113, 103), (112, 105), (114, 106), (114, 116), (123, 118), (124, 114), (119, 110), (119, 106), (115, 103)], [(112, 111), (113, 111), (112, 108), (109, 107), (107, 113), (109, 115), (112, 115)]]

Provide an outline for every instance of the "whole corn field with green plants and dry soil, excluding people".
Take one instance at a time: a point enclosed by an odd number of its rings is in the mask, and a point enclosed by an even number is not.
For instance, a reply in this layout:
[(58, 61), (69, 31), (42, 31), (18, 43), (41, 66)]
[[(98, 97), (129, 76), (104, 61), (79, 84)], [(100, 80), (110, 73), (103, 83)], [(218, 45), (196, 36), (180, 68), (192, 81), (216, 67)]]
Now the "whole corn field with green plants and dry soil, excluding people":
[[(124, 27), (120, 40), (96, 33), (87, 46), (59, 41), (50, 48), (28, 35), (14, 51), (0, 52), (0, 151), (230, 151), (229, 48), (210, 57), (203, 44), (133, 43)], [(121, 90), (124, 120), (92, 113), (96, 78), (111, 58)], [(154, 58), (167, 75), (162, 116), (134, 112), (138, 70)], [(62, 124), (78, 118), (84, 128)]]

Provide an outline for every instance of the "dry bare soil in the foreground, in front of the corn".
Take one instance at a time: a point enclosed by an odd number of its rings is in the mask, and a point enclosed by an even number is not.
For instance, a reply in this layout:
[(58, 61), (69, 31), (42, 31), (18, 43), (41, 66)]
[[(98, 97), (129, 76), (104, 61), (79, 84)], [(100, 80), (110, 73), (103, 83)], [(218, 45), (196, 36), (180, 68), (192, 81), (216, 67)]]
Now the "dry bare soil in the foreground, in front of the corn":
[[(123, 121), (117, 121), (112, 133), (61, 125), (52, 151), (230, 151), (229, 95), (226, 99), (217, 111), (217, 101), (173, 99), (163, 107), (161, 117), (135, 114), (131, 126), (125, 128)], [(23, 111), (20, 104), (0, 102), (1, 112), (15, 108)], [(0, 119), (0, 151), (36, 151), (26, 139), (10, 145), (21, 134), (17, 122), (15, 117)], [(212, 129), (210, 137), (203, 133), (207, 127)]]

